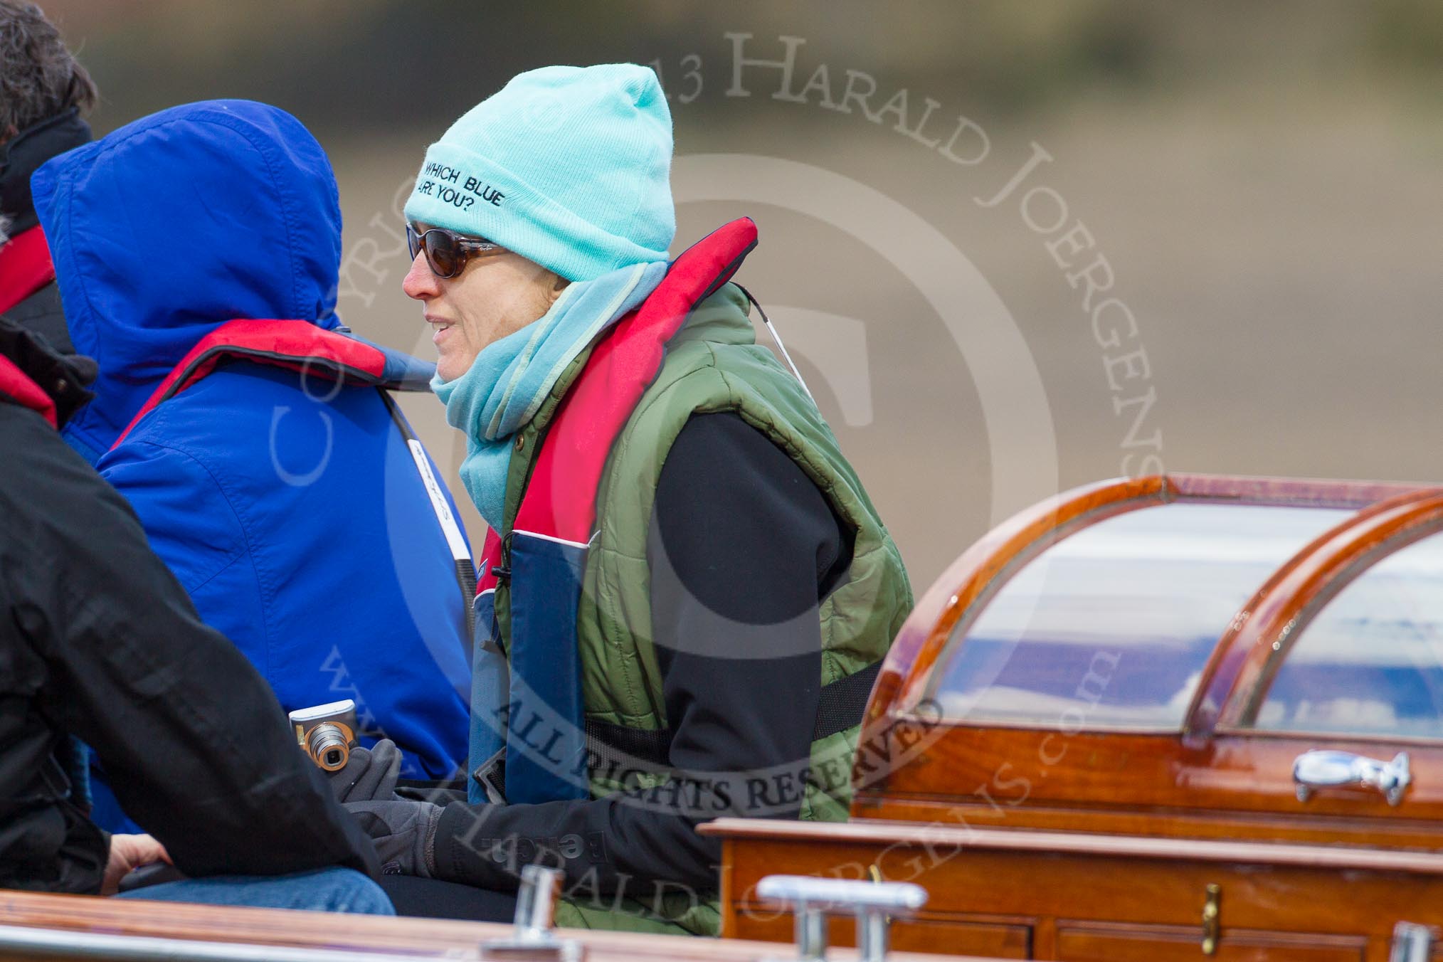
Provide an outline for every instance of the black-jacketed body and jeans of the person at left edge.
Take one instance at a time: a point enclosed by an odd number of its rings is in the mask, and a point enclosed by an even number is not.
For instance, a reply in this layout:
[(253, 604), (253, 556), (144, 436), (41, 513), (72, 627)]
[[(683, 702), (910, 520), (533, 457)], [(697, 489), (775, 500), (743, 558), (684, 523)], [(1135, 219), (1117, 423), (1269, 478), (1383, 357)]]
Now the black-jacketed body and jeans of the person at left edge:
[[(0, 320), (0, 887), (110, 894), (169, 861), (189, 878), (131, 894), (390, 914), (270, 688), (61, 440), (91, 376)], [(152, 835), (87, 818), (76, 738)]]

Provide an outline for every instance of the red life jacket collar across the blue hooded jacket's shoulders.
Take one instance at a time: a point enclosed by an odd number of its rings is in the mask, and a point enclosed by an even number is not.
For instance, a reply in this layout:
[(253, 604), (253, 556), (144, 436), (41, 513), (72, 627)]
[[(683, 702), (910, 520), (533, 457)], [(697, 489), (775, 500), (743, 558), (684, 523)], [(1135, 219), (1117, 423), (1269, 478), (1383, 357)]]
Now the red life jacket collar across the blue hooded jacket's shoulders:
[(385, 355), (380, 349), (309, 322), (228, 320), (190, 348), (130, 420), (111, 449), (126, 440), (131, 428), (162, 401), (173, 398), (211, 374), (222, 358), (244, 358), (290, 368), (326, 381), (378, 385), (385, 374)]

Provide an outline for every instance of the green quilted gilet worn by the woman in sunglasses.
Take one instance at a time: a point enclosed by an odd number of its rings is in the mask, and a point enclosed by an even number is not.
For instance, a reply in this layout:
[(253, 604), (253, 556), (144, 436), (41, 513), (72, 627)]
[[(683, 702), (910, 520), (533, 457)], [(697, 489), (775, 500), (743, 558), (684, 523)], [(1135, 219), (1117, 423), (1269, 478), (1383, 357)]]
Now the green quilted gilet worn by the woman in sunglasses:
[[(541, 410), (517, 436), (506, 479), (506, 531), (514, 524), (556, 407), (589, 359), (573, 362)], [(797, 378), (756, 343), (746, 297), (723, 286), (667, 343), (657, 381), (642, 394), (612, 447), (597, 492), (597, 532), (587, 552), (577, 612), (582, 700), (587, 718), (629, 728), (667, 727), (661, 672), (652, 646), (646, 532), (667, 451), (693, 414), (734, 411), (786, 451), (856, 532), (846, 583), (821, 606), (823, 676), (828, 684), (880, 661), (912, 609), (912, 590), (896, 545), (877, 516), (837, 438)], [(509, 586), (496, 588), (496, 620), (509, 649)], [(851, 803), (857, 728), (812, 743), (811, 777), (801, 816), (844, 821)], [(636, 787), (635, 779), (626, 787)], [(648, 785), (645, 780), (642, 786)], [(592, 795), (622, 786), (593, 773)], [(642, 932), (716, 935), (716, 901), (674, 893), (641, 904), (609, 897), (571, 901), (558, 925)]]

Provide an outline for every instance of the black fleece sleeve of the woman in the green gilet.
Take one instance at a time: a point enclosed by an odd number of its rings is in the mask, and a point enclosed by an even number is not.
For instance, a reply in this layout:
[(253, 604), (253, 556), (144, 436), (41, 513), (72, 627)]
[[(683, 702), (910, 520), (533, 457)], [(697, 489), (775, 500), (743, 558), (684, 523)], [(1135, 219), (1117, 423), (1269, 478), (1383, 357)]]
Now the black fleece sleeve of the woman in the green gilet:
[(720, 844), (698, 822), (801, 809), (821, 691), (817, 606), (848, 541), (817, 486), (739, 415), (687, 421), (648, 532), (672, 779), (599, 800), (456, 802), (436, 837), (440, 877), (514, 888), (519, 865), (548, 861), (573, 897), (714, 890)]

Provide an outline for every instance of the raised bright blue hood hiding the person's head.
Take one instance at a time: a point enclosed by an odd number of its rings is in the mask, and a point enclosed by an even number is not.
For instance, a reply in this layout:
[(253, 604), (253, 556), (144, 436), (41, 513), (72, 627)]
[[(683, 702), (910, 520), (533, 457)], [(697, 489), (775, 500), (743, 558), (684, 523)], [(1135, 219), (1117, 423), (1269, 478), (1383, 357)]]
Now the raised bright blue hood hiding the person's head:
[(100, 363), (95, 400), (66, 427), (92, 463), (227, 320), (339, 326), (336, 179), (283, 110), (175, 107), (55, 157), (30, 189), (71, 340)]

